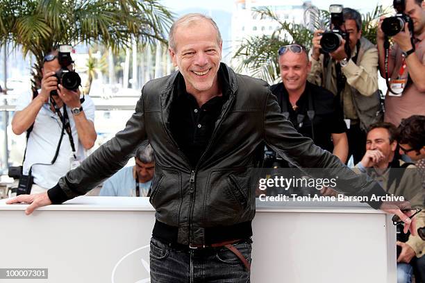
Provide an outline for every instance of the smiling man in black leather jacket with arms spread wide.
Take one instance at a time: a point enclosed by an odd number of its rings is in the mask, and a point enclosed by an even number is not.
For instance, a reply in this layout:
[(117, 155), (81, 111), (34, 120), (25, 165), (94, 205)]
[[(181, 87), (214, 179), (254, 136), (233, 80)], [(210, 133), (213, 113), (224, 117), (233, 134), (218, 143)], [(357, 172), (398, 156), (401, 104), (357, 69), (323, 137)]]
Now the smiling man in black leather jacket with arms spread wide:
[[(220, 63), (222, 39), (213, 19), (189, 14), (174, 22), (169, 54), (178, 71), (144, 85), (124, 130), (47, 193), (8, 203), (31, 203), (26, 209), (31, 214), (36, 207), (85, 194), (149, 139), (156, 162), (151, 282), (249, 282), (255, 214), (250, 182), (260, 144), (267, 143), (306, 173), (333, 168), (343, 194), (385, 196), (376, 182), (356, 175), (294, 130), (267, 83)], [(406, 231), (415, 228), (410, 212), (400, 210), (408, 203), (369, 204), (399, 214)]]

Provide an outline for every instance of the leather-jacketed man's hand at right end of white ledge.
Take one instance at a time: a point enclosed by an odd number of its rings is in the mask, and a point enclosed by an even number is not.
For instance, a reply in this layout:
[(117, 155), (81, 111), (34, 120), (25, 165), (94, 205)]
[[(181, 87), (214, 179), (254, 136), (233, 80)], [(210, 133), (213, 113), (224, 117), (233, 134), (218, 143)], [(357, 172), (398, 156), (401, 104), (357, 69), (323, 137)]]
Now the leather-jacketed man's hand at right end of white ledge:
[(379, 208), (384, 212), (399, 216), (400, 220), (404, 222), (404, 234), (410, 231), (410, 234), (416, 236), (416, 218), (410, 219), (410, 216), (413, 214), (412, 210), (401, 211), (412, 208), (408, 201), (384, 201)]

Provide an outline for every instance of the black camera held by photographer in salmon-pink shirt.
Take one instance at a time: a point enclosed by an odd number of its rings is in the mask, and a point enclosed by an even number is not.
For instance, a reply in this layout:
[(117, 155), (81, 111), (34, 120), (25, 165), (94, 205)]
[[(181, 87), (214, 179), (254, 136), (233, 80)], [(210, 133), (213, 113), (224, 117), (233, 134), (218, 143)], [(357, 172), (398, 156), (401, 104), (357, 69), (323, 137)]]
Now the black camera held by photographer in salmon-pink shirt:
[(387, 36), (397, 35), (400, 31), (403, 31), (404, 25), (408, 23), (410, 33), (413, 33), (413, 22), (412, 19), (404, 13), (406, 8), (405, 0), (394, 0), (392, 3), (397, 14), (394, 17), (387, 17), (382, 22), (382, 31)]

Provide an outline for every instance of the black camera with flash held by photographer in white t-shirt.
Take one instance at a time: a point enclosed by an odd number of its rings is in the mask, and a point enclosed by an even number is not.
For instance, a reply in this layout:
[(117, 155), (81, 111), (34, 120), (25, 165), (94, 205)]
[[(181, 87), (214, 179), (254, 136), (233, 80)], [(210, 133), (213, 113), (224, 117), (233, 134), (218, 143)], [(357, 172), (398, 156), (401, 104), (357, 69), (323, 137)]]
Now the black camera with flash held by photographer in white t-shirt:
[[(70, 71), (68, 69), (68, 66), (72, 65), (74, 62), (71, 58), (71, 52), (71, 45), (62, 44), (59, 46), (58, 61), (60, 70), (56, 71), (54, 76), (58, 78), (58, 83), (63, 85), (66, 89), (76, 90), (81, 85), (81, 78), (76, 71)], [(52, 90), (50, 95), (58, 95), (58, 92), (56, 90)]]

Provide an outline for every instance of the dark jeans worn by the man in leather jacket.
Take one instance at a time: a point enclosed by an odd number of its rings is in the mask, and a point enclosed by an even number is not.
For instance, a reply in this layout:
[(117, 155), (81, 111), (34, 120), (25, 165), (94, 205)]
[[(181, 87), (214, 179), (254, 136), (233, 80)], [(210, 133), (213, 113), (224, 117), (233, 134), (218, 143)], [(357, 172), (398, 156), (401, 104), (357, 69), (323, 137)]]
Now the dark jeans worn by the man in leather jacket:
[[(251, 262), (251, 243), (234, 244)], [(151, 283), (249, 283), (249, 271), (228, 248), (172, 248), (151, 239)]]

